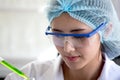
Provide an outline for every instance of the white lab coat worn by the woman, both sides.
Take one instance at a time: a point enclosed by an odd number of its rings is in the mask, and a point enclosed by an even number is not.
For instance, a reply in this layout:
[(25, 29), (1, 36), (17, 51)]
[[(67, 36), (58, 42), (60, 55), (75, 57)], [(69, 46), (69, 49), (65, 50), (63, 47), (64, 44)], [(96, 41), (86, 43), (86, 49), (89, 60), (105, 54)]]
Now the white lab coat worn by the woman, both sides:
[[(35, 80), (64, 80), (61, 67), (61, 57), (52, 61), (41, 63), (34, 61), (27, 64), (22, 71)], [(23, 80), (18, 75), (11, 73), (5, 80)], [(98, 80), (120, 80), (120, 66), (108, 59), (105, 55), (105, 64)]]

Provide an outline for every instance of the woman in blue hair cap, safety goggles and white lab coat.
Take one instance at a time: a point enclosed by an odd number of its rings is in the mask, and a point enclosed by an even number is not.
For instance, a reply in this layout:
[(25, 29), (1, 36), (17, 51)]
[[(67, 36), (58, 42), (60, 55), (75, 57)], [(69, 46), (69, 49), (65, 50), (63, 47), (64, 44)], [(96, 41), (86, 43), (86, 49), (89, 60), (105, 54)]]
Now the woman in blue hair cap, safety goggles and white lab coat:
[[(51, 0), (47, 15), (46, 35), (59, 56), (29, 63), (23, 72), (35, 80), (120, 80), (120, 67), (110, 60), (120, 49), (110, 0)], [(12, 73), (5, 80), (18, 79)]]

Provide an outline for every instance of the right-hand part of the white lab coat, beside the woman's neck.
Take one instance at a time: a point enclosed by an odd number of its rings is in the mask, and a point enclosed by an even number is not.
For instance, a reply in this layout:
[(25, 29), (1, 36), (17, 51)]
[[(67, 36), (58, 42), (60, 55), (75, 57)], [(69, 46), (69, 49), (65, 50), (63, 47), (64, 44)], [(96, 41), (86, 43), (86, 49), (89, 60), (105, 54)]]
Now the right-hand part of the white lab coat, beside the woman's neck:
[(120, 80), (120, 66), (107, 56), (99, 80)]

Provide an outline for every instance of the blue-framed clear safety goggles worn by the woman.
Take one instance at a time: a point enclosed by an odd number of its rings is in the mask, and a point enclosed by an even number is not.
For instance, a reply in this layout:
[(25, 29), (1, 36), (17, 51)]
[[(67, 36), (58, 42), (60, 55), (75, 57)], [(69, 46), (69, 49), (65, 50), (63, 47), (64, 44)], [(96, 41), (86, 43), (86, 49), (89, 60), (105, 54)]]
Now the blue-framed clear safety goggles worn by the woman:
[(64, 45), (69, 42), (74, 47), (84, 47), (91, 45), (91, 37), (103, 29), (106, 24), (107, 22), (102, 23), (92, 32), (86, 34), (65, 34), (52, 32), (51, 27), (48, 26), (45, 34), (52, 38), (52, 41), (56, 46), (64, 47)]

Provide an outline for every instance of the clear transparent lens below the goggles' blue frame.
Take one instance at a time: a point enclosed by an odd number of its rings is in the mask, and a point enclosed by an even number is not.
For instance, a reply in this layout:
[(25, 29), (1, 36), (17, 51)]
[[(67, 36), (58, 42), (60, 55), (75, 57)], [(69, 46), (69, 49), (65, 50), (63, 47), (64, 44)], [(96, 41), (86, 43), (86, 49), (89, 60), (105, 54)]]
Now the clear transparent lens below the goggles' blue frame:
[(87, 37), (49, 35), (49, 38), (56, 46), (59, 47), (64, 47), (66, 42), (74, 47), (85, 47), (91, 45), (91, 40)]

